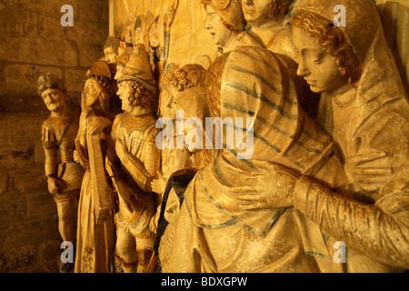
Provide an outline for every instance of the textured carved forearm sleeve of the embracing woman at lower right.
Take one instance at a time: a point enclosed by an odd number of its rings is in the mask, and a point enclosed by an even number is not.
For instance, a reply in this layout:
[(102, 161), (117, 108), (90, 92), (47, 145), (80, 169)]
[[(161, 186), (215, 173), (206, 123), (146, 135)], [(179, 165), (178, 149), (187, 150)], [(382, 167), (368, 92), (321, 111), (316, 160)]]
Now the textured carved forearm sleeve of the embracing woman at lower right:
[(396, 209), (360, 203), (303, 177), (294, 188), (294, 207), (346, 246), (385, 264), (409, 268), (409, 223), (403, 218), (409, 216), (409, 193), (386, 197)]

